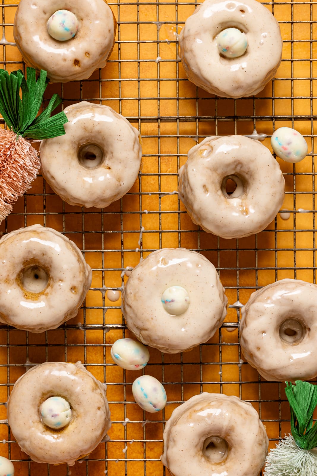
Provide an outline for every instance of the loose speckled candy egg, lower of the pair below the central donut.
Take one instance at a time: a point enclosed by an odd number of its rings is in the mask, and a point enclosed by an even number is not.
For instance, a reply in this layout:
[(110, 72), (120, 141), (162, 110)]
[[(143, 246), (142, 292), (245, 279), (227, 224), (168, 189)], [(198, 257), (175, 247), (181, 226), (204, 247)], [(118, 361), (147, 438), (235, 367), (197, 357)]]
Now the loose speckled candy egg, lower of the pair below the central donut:
[(132, 393), (138, 406), (146, 412), (159, 412), (166, 405), (165, 389), (161, 382), (151, 375), (136, 378), (132, 385)]

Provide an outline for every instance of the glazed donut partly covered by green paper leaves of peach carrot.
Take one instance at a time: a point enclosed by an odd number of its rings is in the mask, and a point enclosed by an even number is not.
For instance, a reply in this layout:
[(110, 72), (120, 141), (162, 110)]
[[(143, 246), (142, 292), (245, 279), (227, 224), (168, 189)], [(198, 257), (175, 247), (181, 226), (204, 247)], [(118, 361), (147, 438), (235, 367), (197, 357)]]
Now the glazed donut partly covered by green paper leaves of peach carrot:
[(139, 133), (108, 106), (82, 101), (64, 111), (66, 134), (41, 142), (43, 176), (70, 205), (107, 207), (137, 178)]

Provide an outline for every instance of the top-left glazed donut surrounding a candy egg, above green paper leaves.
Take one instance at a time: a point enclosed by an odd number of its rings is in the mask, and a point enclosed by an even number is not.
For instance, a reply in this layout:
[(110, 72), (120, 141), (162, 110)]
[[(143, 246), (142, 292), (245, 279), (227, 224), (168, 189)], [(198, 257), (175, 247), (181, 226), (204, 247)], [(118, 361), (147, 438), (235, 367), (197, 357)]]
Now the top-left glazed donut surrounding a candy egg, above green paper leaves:
[[(78, 20), (75, 36), (66, 41), (53, 38), (47, 26), (61, 9), (69, 10)], [(106, 66), (115, 30), (115, 17), (105, 0), (20, 0), (13, 36), (28, 66), (46, 69), (50, 82), (65, 83), (87, 79), (95, 69)]]

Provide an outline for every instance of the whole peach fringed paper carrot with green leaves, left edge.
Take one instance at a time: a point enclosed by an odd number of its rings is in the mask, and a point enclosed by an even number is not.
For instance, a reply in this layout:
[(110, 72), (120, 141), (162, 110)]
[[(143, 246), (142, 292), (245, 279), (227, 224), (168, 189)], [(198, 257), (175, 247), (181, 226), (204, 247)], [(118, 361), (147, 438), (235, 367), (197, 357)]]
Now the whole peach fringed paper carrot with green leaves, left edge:
[(30, 187), (40, 168), (38, 151), (26, 139), (42, 140), (65, 134), (65, 112), (51, 117), (61, 103), (57, 94), (37, 117), (47, 85), (44, 70), (36, 80), (33, 68), (27, 68), (27, 79), (21, 70), (9, 74), (0, 69), (0, 114), (10, 129), (0, 128), (0, 222)]

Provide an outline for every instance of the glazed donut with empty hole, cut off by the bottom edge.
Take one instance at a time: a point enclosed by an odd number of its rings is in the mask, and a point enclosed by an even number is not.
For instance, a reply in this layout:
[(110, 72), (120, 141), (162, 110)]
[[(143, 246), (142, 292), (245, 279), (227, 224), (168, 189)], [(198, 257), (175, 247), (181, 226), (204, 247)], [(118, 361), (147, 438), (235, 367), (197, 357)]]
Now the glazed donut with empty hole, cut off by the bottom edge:
[(249, 402), (204, 392), (173, 410), (161, 460), (173, 476), (258, 476), (268, 446)]

